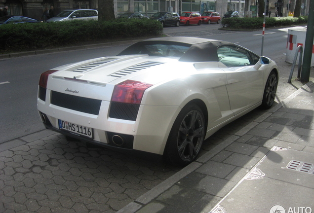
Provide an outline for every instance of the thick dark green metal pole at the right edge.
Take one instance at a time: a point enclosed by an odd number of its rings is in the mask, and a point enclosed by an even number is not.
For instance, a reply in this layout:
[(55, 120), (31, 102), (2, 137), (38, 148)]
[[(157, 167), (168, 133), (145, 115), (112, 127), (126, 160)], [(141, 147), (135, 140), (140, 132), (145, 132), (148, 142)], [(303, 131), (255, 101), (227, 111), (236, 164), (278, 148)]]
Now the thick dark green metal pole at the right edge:
[(310, 81), (311, 60), (314, 41), (314, 0), (310, 0), (307, 34), (305, 37), (304, 57), (301, 71), (301, 81)]

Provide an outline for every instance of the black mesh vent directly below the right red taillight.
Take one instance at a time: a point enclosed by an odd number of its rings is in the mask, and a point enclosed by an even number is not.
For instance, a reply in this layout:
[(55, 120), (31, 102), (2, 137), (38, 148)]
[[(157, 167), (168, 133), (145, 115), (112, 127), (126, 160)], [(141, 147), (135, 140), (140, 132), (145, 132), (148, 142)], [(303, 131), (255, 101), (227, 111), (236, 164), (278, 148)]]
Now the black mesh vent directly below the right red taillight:
[(135, 121), (140, 105), (112, 102), (109, 117)]

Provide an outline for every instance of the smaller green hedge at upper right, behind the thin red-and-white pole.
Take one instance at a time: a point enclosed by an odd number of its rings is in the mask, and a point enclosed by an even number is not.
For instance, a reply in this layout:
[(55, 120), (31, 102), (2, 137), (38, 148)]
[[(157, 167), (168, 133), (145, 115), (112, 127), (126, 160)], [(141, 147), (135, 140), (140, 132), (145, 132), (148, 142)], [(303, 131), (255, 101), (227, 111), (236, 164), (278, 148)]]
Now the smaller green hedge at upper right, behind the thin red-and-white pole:
[[(221, 22), (223, 27), (232, 30), (253, 30), (263, 28), (264, 18), (224, 18)], [(267, 17), (266, 28), (293, 26), (308, 23), (308, 16), (294, 17)]]

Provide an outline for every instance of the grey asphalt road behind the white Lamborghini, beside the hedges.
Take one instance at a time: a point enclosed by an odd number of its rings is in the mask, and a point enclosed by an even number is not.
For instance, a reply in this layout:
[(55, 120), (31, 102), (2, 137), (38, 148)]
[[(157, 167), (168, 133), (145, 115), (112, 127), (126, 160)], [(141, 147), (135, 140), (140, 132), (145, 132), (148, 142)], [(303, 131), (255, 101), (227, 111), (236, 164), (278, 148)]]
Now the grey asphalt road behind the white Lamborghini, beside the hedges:
[[(262, 31), (221, 31), (220, 24), (165, 27), (168, 36), (197, 36), (238, 43), (261, 53)], [(285, 53), (287, 28), (266, 30), (264, 55)], [(0, 143), (43, 130), (36, 100), (40, 73), (77, 61), (118, 54), (127, 45), (83, 49), (0, 60)]]

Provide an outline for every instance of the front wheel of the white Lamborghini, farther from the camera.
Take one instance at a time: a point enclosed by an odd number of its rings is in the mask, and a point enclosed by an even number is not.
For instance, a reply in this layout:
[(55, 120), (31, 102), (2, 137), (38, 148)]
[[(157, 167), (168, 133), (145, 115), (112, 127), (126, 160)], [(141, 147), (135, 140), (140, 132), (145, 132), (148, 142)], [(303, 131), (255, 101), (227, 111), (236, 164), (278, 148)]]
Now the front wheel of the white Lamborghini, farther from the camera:
[(275, 71), (271, 71), (267, 78), (263, 94), (262, 107), (264, 109), (269, 109), (274, 104), (277, 92), (277, 85), (278, 85), (277, 75)]

